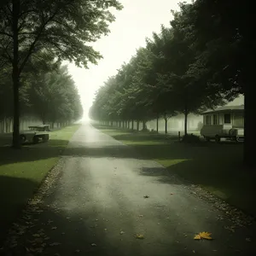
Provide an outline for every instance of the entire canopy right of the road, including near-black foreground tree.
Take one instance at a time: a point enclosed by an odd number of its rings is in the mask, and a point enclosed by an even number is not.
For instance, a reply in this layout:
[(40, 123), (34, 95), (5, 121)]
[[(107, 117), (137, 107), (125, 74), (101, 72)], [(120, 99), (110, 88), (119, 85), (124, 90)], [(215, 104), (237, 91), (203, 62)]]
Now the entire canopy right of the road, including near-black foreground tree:
[[(244, 160), (252, 166), (256, 43), (251, 5), (197, 0), (179, 6), (179, 11), (172, 11), (170, 26), (161, 26), (160, 34), (154, 32), (146, 39), (146, 47), (120, 68), (122, 77), (129, 79), (119, 79), (118, 73), (108, 90), (98, 91), (90, 116), (149, 120), (183, 113), (186, 134), (188, 113), (215, 108), (243, 94)], [(115, 102), (113, 115), (108, 114), (110, 98)]]

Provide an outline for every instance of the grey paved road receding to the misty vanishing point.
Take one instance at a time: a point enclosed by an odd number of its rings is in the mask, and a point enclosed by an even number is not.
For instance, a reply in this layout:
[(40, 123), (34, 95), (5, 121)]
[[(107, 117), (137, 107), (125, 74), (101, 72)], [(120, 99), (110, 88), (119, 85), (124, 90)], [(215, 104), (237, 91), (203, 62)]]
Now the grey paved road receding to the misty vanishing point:
[[(218, 220), (222, 212), (162, 166), (135, 156), (131, 148), (82, 125), (64, 153), (44, 212), (33, 216), (36, 224), (23, 241), (34, 241), (35, 252), (44, 247), (43, 255), (56, 256), (253, 255), (253, 241), (247, 239), (252, 230), (224, 229), (232, 224)], [(195, 241), (201, 231), (214, 240)]]

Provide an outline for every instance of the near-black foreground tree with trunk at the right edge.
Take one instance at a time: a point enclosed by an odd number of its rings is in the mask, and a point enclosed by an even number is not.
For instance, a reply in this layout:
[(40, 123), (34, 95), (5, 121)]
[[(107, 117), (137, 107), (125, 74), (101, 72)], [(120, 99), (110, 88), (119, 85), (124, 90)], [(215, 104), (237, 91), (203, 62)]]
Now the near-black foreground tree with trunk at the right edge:
[(207, 69), (208, 80), (218, 84), (229, 100), (245, 96), (244, 162), (255, 166), (253, 145), (254, 70), (256, 40), (253, 36), (252, 3), (235, 0), (197, 0), (190, 8), (187, 23), (194, 27), (198, 61)]

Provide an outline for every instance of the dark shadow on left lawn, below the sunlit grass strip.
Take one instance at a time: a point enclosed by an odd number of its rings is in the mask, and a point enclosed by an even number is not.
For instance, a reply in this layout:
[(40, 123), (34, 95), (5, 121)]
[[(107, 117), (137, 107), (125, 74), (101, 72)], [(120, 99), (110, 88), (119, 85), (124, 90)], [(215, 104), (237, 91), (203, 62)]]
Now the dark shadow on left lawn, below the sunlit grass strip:
[[(0, 175), (0, 244), (9, 229), (9, 224), (17, 218), (26, 205), (38, 183), (26, 178)], [(22, 189), (22, 191), (20, 191)]]

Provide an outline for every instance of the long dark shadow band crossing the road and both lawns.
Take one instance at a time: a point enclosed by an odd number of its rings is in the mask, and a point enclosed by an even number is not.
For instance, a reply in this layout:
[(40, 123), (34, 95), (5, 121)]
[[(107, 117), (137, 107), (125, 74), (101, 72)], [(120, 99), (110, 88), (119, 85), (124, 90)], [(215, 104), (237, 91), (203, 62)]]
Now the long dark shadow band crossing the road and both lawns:
[[(120, 137), (121, 138), (121, 137)], [(132, 142), (133, 141), (133, 138)], [(158, 142), (155, 140), (155, 142)], [(49, 143), (49, 145), (48, 145)], [(101, 148), (74, 147), (65, 148), (68, 141), (52, 140), (48, 143), (38, 143), (35, 145), (26, 145), (21, 149), (10, 147), (0, 147), (0, 166), (35, 160), (44, 160), (59, 155), (84, 156), (84, 157), (116, 157), (116, 158), (137, 158), (143, 160), (170, 160), (170, 159), (212, 159), (218, 161), (219, 157), (228, 157), (237, 159), (241, 156), (241, 145), (236, 144), (211, 144), (209, 147), (199, 147), (198, 145), (187, 145), (183, 143), (156, 143), (156, 144), (136, 144), (131, 146), (113, 145)]]

